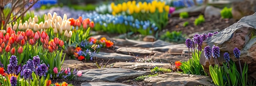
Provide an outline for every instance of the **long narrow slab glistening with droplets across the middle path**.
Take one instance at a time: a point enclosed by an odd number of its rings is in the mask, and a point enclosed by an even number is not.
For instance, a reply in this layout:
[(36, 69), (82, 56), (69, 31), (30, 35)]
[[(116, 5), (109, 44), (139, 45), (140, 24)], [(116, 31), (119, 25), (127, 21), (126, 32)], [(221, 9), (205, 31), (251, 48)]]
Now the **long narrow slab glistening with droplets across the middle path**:
[(154, 67), (172, 68), (169, 63), (117, 62), (113, 65), (113, 68), (125, 68), (132, 70), (147, 70)]

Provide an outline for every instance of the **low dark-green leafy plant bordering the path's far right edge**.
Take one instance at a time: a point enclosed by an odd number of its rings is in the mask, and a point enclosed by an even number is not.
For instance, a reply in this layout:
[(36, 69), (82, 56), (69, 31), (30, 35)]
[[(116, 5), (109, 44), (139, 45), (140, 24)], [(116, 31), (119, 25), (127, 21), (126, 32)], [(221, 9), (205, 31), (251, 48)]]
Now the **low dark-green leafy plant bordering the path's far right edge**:
[(185, 35), (182, 34), (182, 32), (169, 32), (167, 31), (165, 34), (161, 35), (160, 39), (161, 40), (166, 40), (169, 42), (175, 42), (175, 43), (182, 43), (185, 40)]

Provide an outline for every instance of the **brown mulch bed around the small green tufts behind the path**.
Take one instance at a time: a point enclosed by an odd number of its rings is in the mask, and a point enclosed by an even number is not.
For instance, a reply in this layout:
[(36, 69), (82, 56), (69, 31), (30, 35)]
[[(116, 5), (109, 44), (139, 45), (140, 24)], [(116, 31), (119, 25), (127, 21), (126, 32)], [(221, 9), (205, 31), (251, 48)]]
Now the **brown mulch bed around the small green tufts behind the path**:
[[(186, 19), (180, 19), (179, 17), (170, 18), (169, 23), (165, 27), (165, 31), (170, 31), (170, 32), (182, 31), (183, 34), (189, 35), (195, 32), (202, 32), (205, 30), (214, 30), (214, 29), (223, 30), (228, 26), (237, 22), (234, 19), (222, 19), (219, 17), (213, 17), (213, 18), (205, 18), (204, 23), (196, 26), (194, 25), (194, 21), (196, 18), (198, 17), (192, 16)], [(189, 22), (189, 25), (184, 27), (183, 26), (184, 22)]]

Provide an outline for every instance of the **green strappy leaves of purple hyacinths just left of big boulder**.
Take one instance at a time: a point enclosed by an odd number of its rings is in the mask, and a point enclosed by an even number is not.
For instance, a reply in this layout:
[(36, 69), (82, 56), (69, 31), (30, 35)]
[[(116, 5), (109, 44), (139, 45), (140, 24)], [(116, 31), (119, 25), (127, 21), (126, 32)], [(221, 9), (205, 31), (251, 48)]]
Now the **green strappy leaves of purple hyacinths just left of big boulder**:
[(182, 65), (180, 66), (180, 69), (183, 70), (182, 73), (193, 75), (207, 75), (207, 73), (204, 72), (203, 65), (200, 64), (200, 55), (201, 51), (196, 51), (192, 54), (192, 59), (190, 58), (189, 61), (181, 62)]

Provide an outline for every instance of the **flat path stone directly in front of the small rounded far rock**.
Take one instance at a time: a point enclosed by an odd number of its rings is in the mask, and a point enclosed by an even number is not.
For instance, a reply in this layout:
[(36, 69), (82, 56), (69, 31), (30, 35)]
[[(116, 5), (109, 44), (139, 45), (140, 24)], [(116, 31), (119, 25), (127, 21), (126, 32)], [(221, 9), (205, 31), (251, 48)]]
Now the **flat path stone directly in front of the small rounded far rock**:
[(163, 47), (168, 45), (171, 45), (171, 43), (167, 43), (163, 40), (156, 40), (155, 42), (140, 42), (138, 44), (133, 45), (133, 47), (152, 48), (152, 47)]

